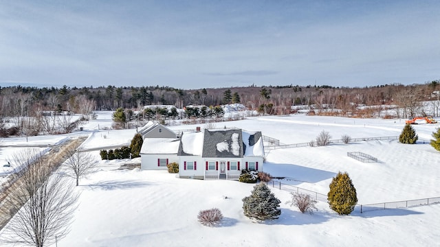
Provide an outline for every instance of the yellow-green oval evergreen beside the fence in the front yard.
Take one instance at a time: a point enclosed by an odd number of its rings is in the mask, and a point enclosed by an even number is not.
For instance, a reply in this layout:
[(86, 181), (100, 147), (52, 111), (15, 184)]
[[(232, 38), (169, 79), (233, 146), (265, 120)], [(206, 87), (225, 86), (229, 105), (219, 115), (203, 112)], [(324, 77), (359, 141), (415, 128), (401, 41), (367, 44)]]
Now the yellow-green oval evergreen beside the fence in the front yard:
[(339, 215), (349, 215), (358, 203), (356, 189), (347, 172), (338, 172), (338, 175), (331, 180), (327, 196), (330, 208)]

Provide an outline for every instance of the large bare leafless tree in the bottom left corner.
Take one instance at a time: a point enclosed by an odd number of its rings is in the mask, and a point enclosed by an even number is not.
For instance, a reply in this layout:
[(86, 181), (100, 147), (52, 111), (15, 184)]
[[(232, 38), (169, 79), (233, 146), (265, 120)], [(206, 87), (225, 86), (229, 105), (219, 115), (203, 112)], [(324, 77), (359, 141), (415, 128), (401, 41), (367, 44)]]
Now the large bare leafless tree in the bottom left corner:
[(1, 242), (45, 246), (69, 232), (78, 193), (72, 183), (47, 163), (36, 150), (14, 154), (18, 179), (9, 188), (0, 207), (3, 215), (13, 215), (3, 228)]

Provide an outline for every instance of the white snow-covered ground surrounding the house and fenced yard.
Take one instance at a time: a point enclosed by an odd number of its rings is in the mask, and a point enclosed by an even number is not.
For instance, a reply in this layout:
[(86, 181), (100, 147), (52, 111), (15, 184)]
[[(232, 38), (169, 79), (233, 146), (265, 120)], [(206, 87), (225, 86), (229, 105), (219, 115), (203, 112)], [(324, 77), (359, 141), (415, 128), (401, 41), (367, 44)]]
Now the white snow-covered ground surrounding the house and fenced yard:
[[(439, 119), (437, 119), (439, 120)], [(343, 134), (352, 138), (398, 136), (405, 119), (351, 119), (291, 115), (250, 117), (217, 123), (218, 128), (234, 126), (261, 130), (281, 143), (307, 143), (322, 130), (331, 139)], [(99, 126), (99, 127), (98, 127)], [(135, 130), (102, 130), (111, 126), (111, 117), (83, 126), (83, 132), (60, 137), (30, 137), (54, 144), (63, 138), (89, 135), (84, 148), (100, 148), (128, 143)], [(188, 129), (196, 126), (170, 126)], [(440, 196), (440, 152), (429, 144), (439, 125), (413, 126), (419, 134), (416, 145), (397, 141), (364, 141), (270, 150), (265, 171), (283, 176), (283, 183), (327, 194), (331, 178), (348, 172), (358, 191), (359, 204), (392, 202)], [(47, 139), (46, 139), (47, 138)], [(19, 145), (19, 139), (5, 139)], [(22, 142), (25, 142), (23, 138)], [(14, 148), (0, 149), (0, 162)], [(94, 156), (99, 159), (99, 151)], [(347, 152), (375, 156), (377, 163), (362, 163)], [(58, 246), (438, 246), (440, 204), (387, 209), (340, 216), (325, 202), (318, 202), (313, 215), (302, 214), (285, 204), (287, 191), (272, 191), (282, 201), (278, 220), (255, 223), (243, 215), (241, 199), (253, 185), (230, 180), (188, 180), (166, 171), (116, 170), (126, 161), (99, 161), (100, 170), (80, 180), (80, 205), (72, 231)], [(227, 197), (227, 199), (224, 199)], [(224, 220), (207, 227), (197, 222), (200, 210), (217, 207)]]

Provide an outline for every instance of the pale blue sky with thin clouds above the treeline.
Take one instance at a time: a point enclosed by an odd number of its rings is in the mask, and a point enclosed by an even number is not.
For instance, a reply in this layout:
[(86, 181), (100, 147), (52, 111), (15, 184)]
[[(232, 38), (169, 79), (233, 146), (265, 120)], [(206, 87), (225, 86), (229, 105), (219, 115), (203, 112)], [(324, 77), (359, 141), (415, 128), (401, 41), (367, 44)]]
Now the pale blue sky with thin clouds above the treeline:
[(440, 1), (0, 0), (0, 85), (440, 79)]

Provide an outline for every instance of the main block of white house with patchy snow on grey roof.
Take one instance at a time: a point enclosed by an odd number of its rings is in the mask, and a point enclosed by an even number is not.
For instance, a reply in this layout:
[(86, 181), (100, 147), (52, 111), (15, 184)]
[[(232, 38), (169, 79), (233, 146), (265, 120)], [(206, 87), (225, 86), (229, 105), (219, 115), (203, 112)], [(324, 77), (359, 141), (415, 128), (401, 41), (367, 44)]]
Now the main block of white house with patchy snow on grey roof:
[(241, 169), (263, 171), (263, 140), (240, 129), (184, 132), (177, 156), (180, 178), (238, 179)]

